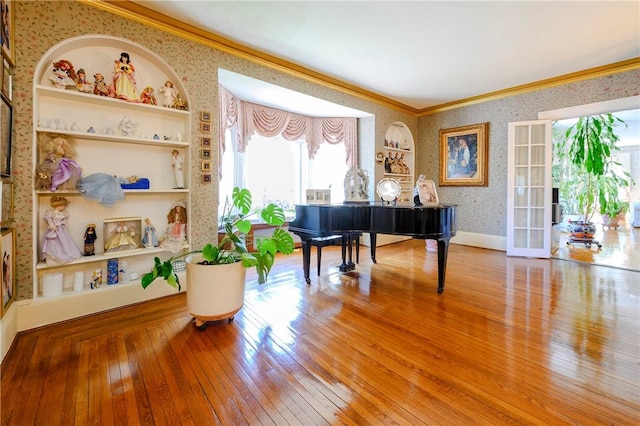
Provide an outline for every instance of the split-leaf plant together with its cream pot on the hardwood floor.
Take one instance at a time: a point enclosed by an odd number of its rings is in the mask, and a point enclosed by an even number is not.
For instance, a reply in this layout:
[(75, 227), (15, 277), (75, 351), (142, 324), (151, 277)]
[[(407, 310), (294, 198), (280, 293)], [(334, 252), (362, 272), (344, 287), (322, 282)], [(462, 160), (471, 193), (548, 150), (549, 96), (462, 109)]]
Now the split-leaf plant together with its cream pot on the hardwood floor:
[(231, 202), (225, 201), (221, 218), (224, 237), (208, 243), (200, 250), (172, 256), (164, 262), (154, 259), (150, 272), (142, 276), (147, 288), (156, 278), (181, 289), (176, 275), (176, 261), (185, 260), (187, 270), (187, 307), (196, 319), (196, 326), (204, 328), (207, 321), (232, 320), (244, 304), (245, 268), (255, 267), (258, 283), (267, 281), (277, 253), (291, 254), (294, 242), (291, 234), (282, 229), (284, 211), (269, 204), (259, 211), (262, 220), (274, 230), (270, 237), (260, 238), (256, 251), (249, 252), (246, 239), (251, 231), (250, 218), (258, 212), (251, 210), (252, 198), (248, 189), (233, 189)]

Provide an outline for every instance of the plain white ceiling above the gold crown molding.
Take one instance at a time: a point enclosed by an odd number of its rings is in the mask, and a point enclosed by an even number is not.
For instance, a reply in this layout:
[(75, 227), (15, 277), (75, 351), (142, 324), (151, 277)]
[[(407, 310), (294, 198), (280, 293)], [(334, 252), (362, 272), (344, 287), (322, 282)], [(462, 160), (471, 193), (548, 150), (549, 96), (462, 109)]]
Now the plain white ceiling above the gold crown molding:
[(639, 1), (136, 3), (417, 109), (640, 57)]

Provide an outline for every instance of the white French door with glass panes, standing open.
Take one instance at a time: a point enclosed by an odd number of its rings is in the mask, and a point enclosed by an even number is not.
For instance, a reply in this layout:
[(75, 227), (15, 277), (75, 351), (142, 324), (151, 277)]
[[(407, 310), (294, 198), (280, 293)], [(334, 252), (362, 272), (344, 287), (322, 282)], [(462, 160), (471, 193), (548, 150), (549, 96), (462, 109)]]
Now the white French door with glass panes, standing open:
[(507, 256), (551, 257), (551, 128), (509, 123)]

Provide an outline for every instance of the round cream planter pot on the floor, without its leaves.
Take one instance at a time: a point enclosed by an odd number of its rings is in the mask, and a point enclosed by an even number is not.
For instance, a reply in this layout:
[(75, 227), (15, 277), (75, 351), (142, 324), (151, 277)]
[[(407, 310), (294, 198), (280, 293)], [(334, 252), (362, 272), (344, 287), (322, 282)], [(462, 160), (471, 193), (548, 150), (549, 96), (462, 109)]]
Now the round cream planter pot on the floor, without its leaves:
[(246, 269), (242, 262), (200, 265), (202, 255), (187, 257), (187, 309), (204, 328), (207, 321), (233, 320), (244, 304)]

